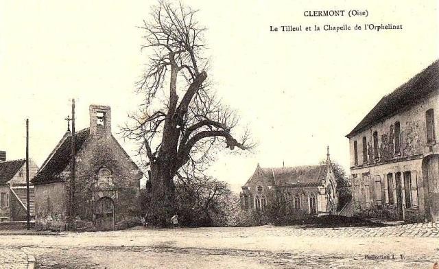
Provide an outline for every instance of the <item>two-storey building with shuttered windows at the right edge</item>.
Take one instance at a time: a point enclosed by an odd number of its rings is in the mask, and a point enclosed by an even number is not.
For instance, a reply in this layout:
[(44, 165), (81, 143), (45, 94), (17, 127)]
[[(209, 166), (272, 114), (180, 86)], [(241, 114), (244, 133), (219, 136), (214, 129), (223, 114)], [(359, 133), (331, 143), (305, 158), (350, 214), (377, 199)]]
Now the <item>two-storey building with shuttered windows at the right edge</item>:
[(346, 136), (355, 214), (439, 220), (439, 62), (385, 95)]

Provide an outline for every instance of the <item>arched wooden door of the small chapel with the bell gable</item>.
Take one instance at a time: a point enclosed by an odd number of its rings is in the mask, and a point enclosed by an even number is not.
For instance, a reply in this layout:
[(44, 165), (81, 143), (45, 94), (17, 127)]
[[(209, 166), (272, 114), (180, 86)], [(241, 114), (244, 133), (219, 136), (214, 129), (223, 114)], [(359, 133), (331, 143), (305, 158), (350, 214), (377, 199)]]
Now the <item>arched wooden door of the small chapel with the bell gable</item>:
[(95, 205), (96, 229), (112, 231), (115, 229), (115, 202), (109, 197), (102, 197)]

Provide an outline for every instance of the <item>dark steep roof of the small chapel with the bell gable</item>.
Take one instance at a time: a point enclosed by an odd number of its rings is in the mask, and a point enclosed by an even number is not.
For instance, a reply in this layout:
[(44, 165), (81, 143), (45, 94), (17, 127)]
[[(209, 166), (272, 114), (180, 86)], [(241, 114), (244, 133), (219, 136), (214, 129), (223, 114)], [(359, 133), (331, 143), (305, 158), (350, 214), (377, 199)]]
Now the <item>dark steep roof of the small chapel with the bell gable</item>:
[[(88, 136), (90, 135), (90, 128), (86, 128), (76, 132), (76, 152), (80, 150)], [(70, 164), (71, 161), (71, 132), (66, 132), (64, 137), (58, 143), (53, 152), (49, 155), (46, 161), (41, 166), (40, 170), (34, 178), (32, 183), (49, 183), (61, 181), (60, 174)]]

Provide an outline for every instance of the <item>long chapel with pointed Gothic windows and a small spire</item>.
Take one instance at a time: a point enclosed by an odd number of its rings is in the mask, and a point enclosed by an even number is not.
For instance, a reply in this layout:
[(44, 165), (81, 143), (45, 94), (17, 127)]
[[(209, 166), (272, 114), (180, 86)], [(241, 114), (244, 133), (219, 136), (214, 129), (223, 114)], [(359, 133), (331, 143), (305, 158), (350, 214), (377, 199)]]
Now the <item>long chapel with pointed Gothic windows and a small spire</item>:
[(329, 148), (324, 165), (265, 168), (259, 164), (242, 186), (241, 208), (264, 209), (275, 194), (287, 197), (297, 211), (327, 215), (337, 210), (337, 182)]

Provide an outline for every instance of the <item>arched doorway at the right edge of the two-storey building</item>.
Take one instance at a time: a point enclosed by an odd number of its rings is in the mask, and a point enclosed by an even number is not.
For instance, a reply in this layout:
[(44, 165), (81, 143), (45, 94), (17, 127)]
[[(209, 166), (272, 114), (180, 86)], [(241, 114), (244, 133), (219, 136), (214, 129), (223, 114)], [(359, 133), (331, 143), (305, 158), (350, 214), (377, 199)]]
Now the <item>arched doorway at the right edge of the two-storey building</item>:
[(424, 201), (429, 220), (439, 222), (439, 155), (423, 159)]

